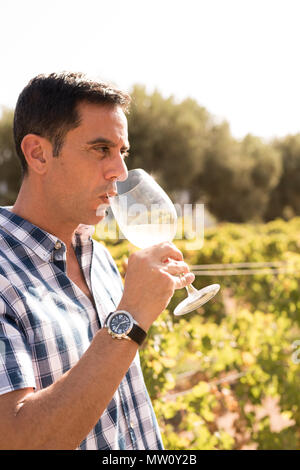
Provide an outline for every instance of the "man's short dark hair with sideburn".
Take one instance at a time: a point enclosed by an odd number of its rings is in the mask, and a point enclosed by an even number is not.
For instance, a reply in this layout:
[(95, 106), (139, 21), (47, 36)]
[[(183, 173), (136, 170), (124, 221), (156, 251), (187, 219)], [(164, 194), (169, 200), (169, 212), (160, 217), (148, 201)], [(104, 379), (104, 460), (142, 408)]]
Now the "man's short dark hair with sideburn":
[(83, 73), (42, 74), (30, 80), (18, 98), (14, 114), (14, 139), (23, 176), (28, 172), (21, 149), (25, 135), (49, 139), (53, 156), (58, 156), (67, 132), (80, 124), (77, 106), (81, 102), (118, 105), (126, 112), (130, 96)]

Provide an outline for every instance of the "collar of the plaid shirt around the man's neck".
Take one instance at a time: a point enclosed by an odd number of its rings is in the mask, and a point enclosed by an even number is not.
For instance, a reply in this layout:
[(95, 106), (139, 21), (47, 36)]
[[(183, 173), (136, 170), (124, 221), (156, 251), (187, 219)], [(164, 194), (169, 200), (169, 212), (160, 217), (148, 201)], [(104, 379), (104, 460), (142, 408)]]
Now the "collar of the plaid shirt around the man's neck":
[[(44, 261), (50, 261), (57, 247), (65, 247), (65, 244), (55, 235), (14, 214), (11, 209), (12, 206), (0, 207), (0, 228), (34, 251)], [(93, 225), (80, 224), (74, 232), (73, 244), (77, 243), (76, 236), (79, 236), (81, 243), (89, 242), (94, 230)]]

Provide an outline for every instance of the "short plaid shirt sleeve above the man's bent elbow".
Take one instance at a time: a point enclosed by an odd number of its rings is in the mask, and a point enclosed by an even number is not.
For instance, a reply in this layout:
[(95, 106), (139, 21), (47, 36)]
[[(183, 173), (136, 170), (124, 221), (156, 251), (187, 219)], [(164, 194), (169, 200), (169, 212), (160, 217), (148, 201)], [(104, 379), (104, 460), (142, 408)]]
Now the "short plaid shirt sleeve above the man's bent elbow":
[(0, 395), (36, 388), (32, 355), (13, 309), (0, 296)]

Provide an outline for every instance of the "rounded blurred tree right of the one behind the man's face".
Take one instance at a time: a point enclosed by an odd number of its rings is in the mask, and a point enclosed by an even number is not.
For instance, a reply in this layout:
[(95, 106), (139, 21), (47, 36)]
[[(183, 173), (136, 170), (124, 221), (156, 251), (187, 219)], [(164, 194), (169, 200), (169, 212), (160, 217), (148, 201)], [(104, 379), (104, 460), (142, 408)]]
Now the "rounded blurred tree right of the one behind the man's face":
[(202, 197), (219, 220), (261, 220), (281, 171), (276, 149), (251, 135), (235, 140), (223, 122), (211, 131), (203, 171), (193, 182), (193, 199)]

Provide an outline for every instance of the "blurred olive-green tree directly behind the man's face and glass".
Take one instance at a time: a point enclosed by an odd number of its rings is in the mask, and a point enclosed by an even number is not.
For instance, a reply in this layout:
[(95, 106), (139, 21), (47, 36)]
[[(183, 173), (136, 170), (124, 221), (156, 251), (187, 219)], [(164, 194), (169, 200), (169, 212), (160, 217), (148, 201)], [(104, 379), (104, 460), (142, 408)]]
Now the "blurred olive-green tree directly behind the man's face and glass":
[(192, 99), (176, 103), (158, 91), (147, 95), (142, 86), (136, 85), (131, 95), (129, 167), (153, 173), (168, 191), (189, 188), (202, 167), (209, 113)]

